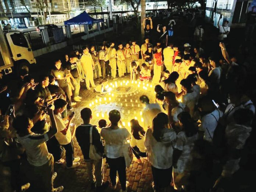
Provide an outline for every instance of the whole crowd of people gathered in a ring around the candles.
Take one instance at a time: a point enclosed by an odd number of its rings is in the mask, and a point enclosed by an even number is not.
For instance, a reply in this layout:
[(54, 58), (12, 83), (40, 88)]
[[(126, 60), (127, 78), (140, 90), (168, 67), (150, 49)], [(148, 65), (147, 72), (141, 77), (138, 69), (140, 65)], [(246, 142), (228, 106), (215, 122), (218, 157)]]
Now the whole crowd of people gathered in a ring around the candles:
[[(229, 191), (238, 186), (234, 181), (241, 177), (239, 169), (249, 164), (245, 149), (253, 141), (254, 89), (249, 75), (255, 70), (255, 55), (245, 49), (243, 59), (230, 56), (223, 42), (215, 53), (205, 54), (199, 24), (193, 28), (194, 45), (173, 43), (174, 20), (157, 26), (158, 38), (152, 33), (151, 18), (145, 18), (143, 25), (145, 43), (141, 46), (134, 40), (117, 43), (117, 47), (113, 41), (99, 49), (85, 46), (56, 58), (48, 74), (38, 78), (23, 69), (12, 86), (1, 85), (0, 161), (10, 168), (11, 191), (63, 191), (63, 186), (53, 187), (57, 177), (53, 167), (64, 162), (68, 169), (80, 166), (80, 158), (74, 155), (74, 136), (91, 188), (97, 191), (115, 190), (118, 181), (121, 190), (127, 191), (131, 153), (136, 163), (141, 164), (141, 158), (150, 162), (152, 187), (157, 192), (170, 188)], [(77, 127), (72, 109), (86, 100), (79, 96), (82, 83), (100, 97), (109, 79), (115, 81), (117, 76), (155, 86), (152, 103), (148, 96), (137, 95), (144, 107), (143, 124), (132, 119), (128, 131), (120, 127), (120, 112), (112, 110), (108, 120), (92, 125), (93, 111), (84, 108), (83, 123)], [(110, 181), (103, 182), (106, 163)]]

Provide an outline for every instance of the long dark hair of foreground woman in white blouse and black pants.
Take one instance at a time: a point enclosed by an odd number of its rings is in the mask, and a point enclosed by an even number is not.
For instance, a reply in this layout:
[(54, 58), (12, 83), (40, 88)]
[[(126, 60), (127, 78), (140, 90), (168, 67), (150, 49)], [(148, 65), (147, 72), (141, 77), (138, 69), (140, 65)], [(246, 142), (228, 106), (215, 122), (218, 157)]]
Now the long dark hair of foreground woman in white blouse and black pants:
[(157, 142), (161, 142), (161, 138), (163, 137), (162, 130), (166, 128), (168, 125), (168, 115), (165, 113), (159, 113), (154, 117), (152, 123), (152, 135), (156, 139)]

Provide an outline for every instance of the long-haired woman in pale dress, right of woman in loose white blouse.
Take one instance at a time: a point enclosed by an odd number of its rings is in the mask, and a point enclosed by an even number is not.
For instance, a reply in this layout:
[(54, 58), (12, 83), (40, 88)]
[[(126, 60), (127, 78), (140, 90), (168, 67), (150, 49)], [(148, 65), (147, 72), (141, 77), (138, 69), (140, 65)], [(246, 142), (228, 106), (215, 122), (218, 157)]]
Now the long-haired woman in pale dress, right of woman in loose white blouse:
[[(173, 181), (174, 189), (181, 189), (181, 175), (184, 173), (186, 164), (188, 163), (194, 142), (198, 139), (198, 127), (188, 112), (178, 114), (179, 125), (181, 131), (177, 134), (177, 140), (173, 151)], [(178, 175), (180, 175), (178, 177)]]

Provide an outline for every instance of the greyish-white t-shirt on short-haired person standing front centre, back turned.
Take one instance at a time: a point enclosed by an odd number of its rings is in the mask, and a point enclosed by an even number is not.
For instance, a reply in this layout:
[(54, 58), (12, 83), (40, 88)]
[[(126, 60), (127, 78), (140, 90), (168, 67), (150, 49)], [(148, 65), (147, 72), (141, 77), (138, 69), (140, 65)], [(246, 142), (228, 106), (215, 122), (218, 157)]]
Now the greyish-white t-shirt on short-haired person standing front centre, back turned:
[(122, 146), (127, 138), (131, 138), (131, 134), (126, 128), (103, 127), (100, 136), (105, 140), (104, 151), (108, 158), (115, 159), (124, 156)]

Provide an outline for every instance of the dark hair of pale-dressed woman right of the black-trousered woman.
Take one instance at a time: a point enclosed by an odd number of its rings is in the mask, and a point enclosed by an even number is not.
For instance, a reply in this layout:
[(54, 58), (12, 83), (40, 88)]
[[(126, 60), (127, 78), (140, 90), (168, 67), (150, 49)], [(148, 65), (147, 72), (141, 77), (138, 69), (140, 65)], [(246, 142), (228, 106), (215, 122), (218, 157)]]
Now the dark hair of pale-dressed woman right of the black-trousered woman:
[(187, 137), (197, 134), (198, 127), (196, 127), (195, 122), (188, 112), (181, 112), (178, 114), (178, 120), (182, 123), (182, 130)]

